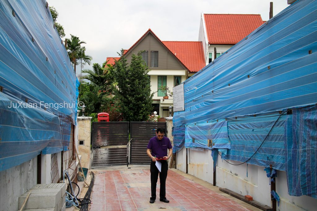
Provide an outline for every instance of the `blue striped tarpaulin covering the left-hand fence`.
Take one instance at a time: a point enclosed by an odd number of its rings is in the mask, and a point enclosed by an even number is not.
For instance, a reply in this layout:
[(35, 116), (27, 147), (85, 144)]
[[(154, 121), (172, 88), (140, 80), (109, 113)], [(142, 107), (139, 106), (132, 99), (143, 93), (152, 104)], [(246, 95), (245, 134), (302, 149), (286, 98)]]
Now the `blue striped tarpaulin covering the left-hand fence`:
[(63, 150), (59, 113), (76, 121), (76, 77), (46, 1), (0, 1), (0, 171)]

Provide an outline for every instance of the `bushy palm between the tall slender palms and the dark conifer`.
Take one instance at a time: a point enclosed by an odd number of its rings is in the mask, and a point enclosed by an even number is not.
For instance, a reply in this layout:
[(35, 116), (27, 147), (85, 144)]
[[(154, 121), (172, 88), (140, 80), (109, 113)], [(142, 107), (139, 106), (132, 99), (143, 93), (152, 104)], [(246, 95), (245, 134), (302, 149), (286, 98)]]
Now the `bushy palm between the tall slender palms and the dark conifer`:
[(107, 64), (108, 61), (102, 65), (98, 63), (93, 64), (93, 70), (85, 69), (82, 72), (88, 75), (82, 76), (81, 79), (86, 79), (92, 84), (100, 87), (103, 91), (111, 92), (113, 86), (113, 76), (111, 73), (111, 65)]

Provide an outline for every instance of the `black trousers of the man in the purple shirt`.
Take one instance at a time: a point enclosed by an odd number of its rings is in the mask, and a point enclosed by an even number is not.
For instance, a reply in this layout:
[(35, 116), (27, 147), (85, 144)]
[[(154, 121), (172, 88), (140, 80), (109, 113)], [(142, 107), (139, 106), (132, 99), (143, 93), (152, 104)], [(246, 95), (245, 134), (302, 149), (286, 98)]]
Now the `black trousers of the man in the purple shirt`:
[(165, 194), (166, 194), (165, 183), (166, 183), (167, 170), (168, 170), (167, 160), (159, 160), (156, 162), (161, 162), (162, 168), (161, 168), (161, 172), (159, 172), (158, 168), (155, 165), (155, 162), (151, 161), (151, 167), (150, 167), (151, 199), (152, 200), (156, 199), (156, 183), (158, 182), (158, 177), (159, 177), (159, 182), (160, 182), (159, 199), (166, 199), (166, 197), (165, 197)]

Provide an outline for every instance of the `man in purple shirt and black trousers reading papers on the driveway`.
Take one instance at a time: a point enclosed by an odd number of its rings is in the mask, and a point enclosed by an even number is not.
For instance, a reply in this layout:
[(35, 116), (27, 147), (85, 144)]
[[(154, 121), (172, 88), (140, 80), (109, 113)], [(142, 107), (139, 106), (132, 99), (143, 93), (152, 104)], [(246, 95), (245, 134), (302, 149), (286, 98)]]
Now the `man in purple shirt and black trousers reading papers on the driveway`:
[[(165, 182), (167, 177), (168, 164), (167, 159), (169, 159), (173, 153), (172, 145), (169, 138), (165, 137), (165, 128), (158, 127), (156, 129), (156, 136), (151, 138), (149, 144), (147, 145), (146, 153), (152, 159), (150, 172), (151, 172), (151, 198), (150, 203), (154, 203), (156, 199), (156, 183), (158, 182), (158, 177), (160, 181), (159, 190), (159, 200), (161, 202), (168, 203), (165, 197)], [(167, 149), (169, 149), (168, 156)], [(159, 158), (163, 158), (162, 160)], [(159, 160), (158, 160), (159, 159)], [(155, 162), (161, 162), (161, 172), (155, 165)]]

